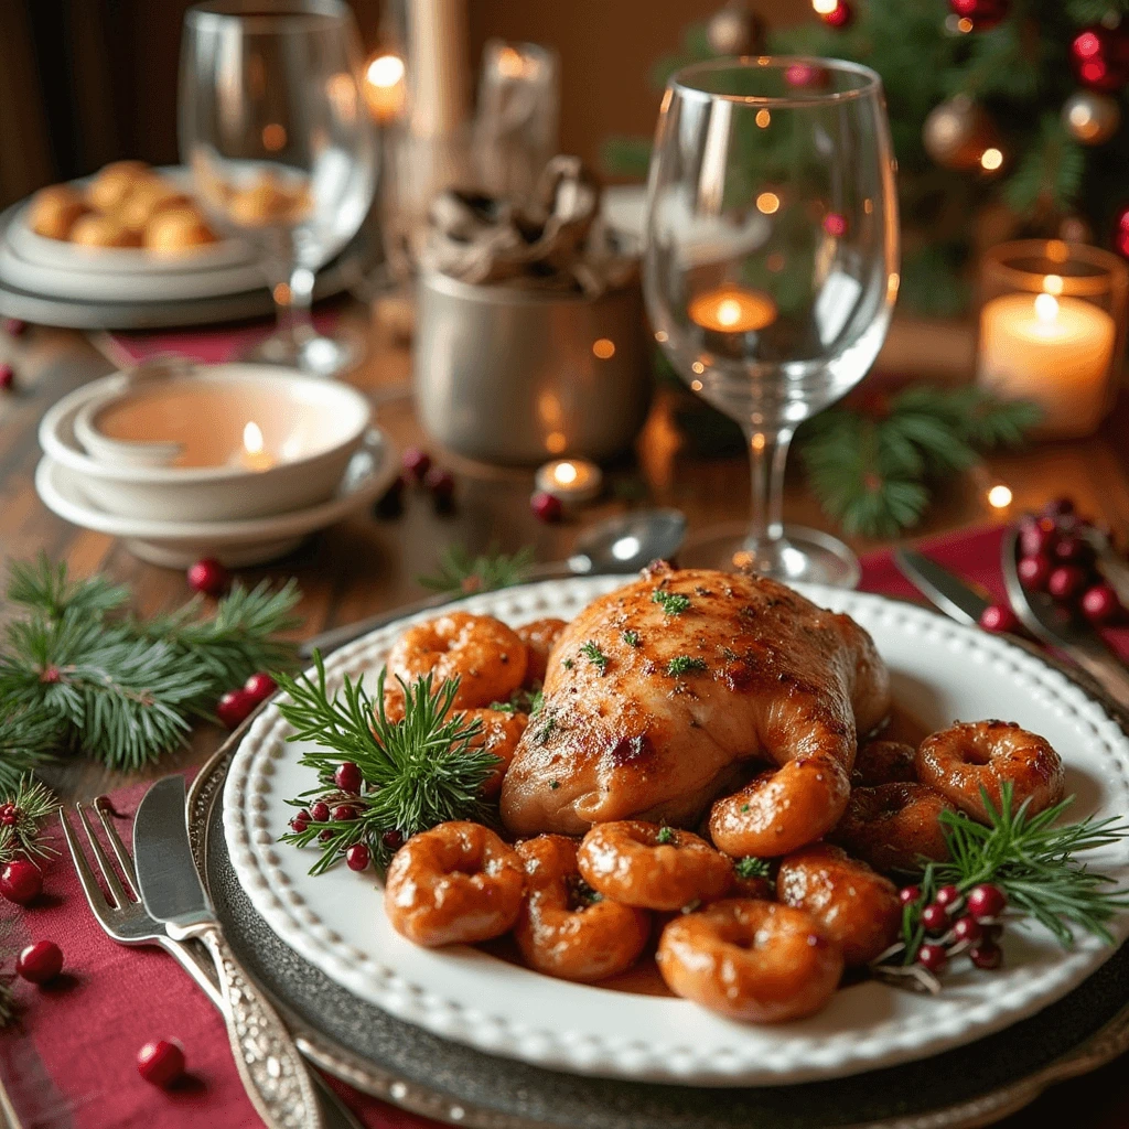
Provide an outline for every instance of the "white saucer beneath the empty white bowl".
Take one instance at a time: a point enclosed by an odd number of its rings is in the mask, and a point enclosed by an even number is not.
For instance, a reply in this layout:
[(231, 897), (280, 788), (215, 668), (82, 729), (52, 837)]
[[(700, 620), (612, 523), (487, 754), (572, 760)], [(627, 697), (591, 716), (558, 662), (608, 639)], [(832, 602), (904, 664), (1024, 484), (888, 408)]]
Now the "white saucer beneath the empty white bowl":
[(239, 522), (158, 522), (107, 514), (85, 493), (82, 475), (50, 455), (35, 469), (35, 489), (53, 514), (82, 528), (124, 539), (134, 557), (151, 564), (187, 568), (202, 557), (215, 557), (231, 568), (242, 568), (285, 557), (309, 534), (370, 506), (388, 489), (399, 470), (395, 448), (374, 429), (327, 501), (290, 514)]

